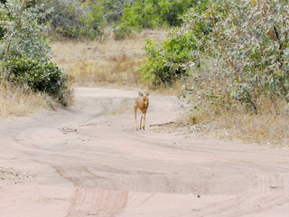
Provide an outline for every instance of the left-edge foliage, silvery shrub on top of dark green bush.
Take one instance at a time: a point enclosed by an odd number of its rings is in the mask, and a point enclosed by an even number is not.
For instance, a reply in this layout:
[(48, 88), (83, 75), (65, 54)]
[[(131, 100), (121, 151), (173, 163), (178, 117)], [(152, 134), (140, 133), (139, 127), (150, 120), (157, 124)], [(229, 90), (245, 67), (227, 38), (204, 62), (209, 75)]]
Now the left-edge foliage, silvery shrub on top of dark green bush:
[[(46, 26), (40, 24), (44, 14), (28, 7), (30, 1), (7, 0), (0, 5), (5, 29), (1, 40), (1, 78), (16, 85), (27, 84), (32, 90), (44, 91), (66, 105), (69, 93), (67, 77), (50, 59)], [(1, 80), (0, 80), (1, 81)]]

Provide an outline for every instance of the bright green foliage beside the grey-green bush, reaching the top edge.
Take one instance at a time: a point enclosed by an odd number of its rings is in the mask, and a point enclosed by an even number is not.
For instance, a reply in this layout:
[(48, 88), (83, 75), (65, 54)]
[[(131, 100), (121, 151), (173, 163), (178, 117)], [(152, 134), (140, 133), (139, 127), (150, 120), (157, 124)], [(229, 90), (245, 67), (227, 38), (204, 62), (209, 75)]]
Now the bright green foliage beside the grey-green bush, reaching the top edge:
[[(198, 53), (204, 51), (200, 41), (204, 41), (210, 32), (210, 25), (203, 24), (199, 14), (205, 4), (203, 2), (191, 10), (199, 20), (190, 31), (182, 26), (172, 29), (164, 42), (147, 41), (144, 50), (148, 61), (139, 70), (144, 80), (153, 80), (154, 85), (172, 85), (175, 80), (188, 76), (188, 69), (196, 64)], [(186, 15), (182, 20), (184, 24), (191, 24)]]

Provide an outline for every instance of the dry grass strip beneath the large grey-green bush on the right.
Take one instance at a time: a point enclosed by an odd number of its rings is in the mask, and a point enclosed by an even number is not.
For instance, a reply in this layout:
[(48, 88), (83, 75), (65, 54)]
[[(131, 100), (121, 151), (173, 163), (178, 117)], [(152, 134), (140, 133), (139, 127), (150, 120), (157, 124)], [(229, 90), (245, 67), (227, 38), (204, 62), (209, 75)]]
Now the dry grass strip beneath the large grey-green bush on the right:
[(289, 110), (285, 100), (259, 99), (257, 108), (256, 115), (247, 112), (242, 105), (228, 110), (203, 102), (199, 110), (189, 113), (185, 124), (190, 125), (191, 131), (206, 136), (288, 146)]

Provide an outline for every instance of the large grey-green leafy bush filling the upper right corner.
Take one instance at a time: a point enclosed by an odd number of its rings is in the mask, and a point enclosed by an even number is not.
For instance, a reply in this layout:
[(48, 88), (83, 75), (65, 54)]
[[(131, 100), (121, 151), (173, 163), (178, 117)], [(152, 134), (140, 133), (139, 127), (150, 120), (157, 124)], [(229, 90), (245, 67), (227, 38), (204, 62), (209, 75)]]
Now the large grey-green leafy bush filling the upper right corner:
[[(237, 99), (255, 112), (257, 99), (265, 95), (289, 101), (288, 4), (222, 0), (206, 13), (210, 16), (204, 23), (211, 24), (212, 31), (200, 61), (206, 64), (208, 54), (218, 60), (210, 71), (221, 89), (219, 100)], [(205, 83), (216, 92), (215, 85)]]

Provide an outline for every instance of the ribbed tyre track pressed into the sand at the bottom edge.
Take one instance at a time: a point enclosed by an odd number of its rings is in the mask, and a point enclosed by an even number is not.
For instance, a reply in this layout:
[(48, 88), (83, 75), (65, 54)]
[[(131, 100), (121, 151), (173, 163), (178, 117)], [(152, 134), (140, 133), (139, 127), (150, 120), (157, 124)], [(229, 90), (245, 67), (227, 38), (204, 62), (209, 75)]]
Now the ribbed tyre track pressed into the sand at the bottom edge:
[(75, 193), (67, 217), (115, 216), (126, 207), (126, 191), (101, 189), (97, 185), (87, 186), (88, 180), (103, 178), (91, 173), (87, 167), (64, 168), (53, 165), (53, 168), (61, 177), (75, 185)]

